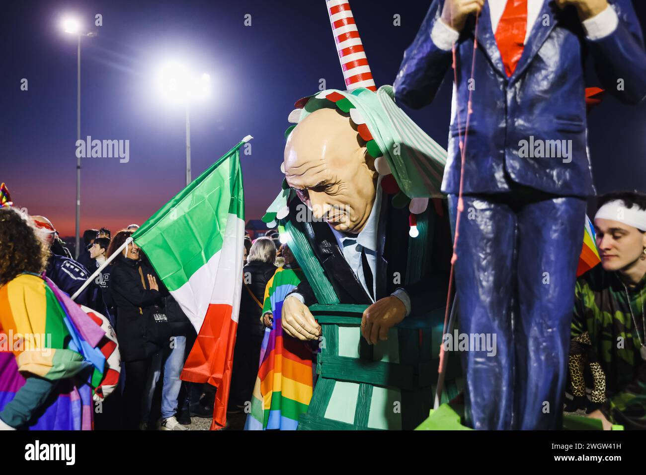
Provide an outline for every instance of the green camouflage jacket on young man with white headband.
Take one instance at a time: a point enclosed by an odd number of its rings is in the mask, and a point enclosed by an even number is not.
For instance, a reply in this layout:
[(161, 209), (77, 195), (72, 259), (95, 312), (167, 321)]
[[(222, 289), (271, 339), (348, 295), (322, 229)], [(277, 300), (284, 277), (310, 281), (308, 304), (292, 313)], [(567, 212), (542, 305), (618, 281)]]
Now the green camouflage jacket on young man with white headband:
[(626, 429), (646, 429), (646, 364), (638, 337), (644, 339), (645, 287), (646, 276), (637, 287), (627, 289), (615, 272), (601, 265), (576, 282), (572, 337), (588, 332), (606, 377), (607, 399), (601, 412)]

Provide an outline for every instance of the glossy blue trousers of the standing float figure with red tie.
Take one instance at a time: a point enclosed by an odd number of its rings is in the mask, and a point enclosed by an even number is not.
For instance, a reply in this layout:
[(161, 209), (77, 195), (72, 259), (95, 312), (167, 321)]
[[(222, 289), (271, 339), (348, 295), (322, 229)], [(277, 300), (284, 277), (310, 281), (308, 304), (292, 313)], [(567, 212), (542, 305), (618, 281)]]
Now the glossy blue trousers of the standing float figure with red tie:
[[(482, 347), (461, 353), (474, 429), (561, 427), (586, 202), (522, 191), (463, 196), (459, 332), (495, 338), (495, 355)], [(449, 196), (453, 231), (457, 201)]]

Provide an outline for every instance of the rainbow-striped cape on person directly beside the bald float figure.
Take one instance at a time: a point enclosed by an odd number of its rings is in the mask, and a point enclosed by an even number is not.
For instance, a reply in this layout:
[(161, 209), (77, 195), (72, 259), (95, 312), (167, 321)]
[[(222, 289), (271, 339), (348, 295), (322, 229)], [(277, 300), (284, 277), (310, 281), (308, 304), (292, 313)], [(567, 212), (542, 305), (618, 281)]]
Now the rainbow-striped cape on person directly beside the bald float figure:
[(245, 430), (296, 430), (300, 414), (307, 412), (318, 341), (312, 346), (284, 335), (280, 321), (284, 299), (302, 279), (300, 268), (279, 267), (267, 283), (262, 314), (271, 312), (274, 325), (265, 332)]

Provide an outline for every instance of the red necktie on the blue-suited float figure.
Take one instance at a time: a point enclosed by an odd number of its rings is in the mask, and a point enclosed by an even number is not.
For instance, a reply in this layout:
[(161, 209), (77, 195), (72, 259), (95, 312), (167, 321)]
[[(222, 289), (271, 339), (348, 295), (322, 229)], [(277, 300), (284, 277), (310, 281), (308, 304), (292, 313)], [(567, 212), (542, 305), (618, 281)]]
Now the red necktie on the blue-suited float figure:
[(527, 0), (507, 0), (505, 12), (495, 30), (500, 56), (507, 76), (512, 76), (523, 56), (527, 33)]

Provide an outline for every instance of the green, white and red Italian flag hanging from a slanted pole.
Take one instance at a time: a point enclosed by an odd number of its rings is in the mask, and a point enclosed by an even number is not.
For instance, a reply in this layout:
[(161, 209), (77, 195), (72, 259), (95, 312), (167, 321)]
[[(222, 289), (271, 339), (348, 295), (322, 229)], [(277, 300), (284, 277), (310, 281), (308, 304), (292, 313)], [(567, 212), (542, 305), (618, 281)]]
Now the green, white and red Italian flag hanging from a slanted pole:
[(132, 236), (198, 332), (182, 379), (218, 388), (211, 430), (226, 424), (242, 290), (240, 147), (249, 139), (242, 139)]

